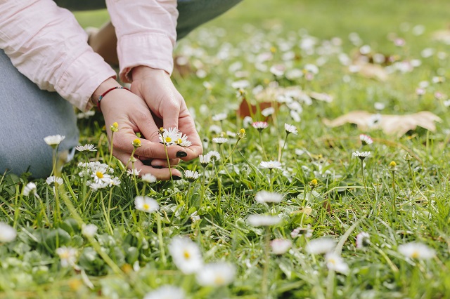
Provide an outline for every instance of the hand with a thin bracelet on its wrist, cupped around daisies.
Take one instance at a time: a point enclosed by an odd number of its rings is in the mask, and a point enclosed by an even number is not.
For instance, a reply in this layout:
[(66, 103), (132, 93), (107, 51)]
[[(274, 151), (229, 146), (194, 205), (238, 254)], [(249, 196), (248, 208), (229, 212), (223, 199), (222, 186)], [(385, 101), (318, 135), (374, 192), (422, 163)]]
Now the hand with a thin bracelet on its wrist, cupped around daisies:
[[(115, 86), (120, 85), (112, 78), (104, 81), (94, 92), (93, 99), (98, 99), (98, 95)], [(153, 121), (152, 114), (146, 102), (130, 91), (115, 89), (110, 91), (102, 99), (101, 110), (105, 118), (105, 126), (109, 139), (111, 138), (110, 126), (114, 122), (119, 124), (119, 131), (114, 133), (113, 155), (131, 169), (129, 158), (131, 157), (131, 152), (134, 150), (132, 142), (136, 139), (136, 132), (140, 132), (145, 139), (140, 138), (141, 147), (138, 147), (134, 153), (138, 158), (134, 162), (134, 168), (138, 171), (140, 170), (141, 175), (151, 173), (159, 180), (169, 180), (169, 168), (153, 168), (146, 166), (142, 162), (147, 159), (167, 161), (165, 147), (159, 142), (158, 126)], [(187, 150), (184, 147), (167, 147), (167, 155), (171, 159), (170, 164), (177, 164), (179, 157), (186, 157), (188, 155), (186, 152)], [(174, 168), (171, 168), (171, 170), (174, 179), (181, 178), (181, 173), (178, 170)]]

